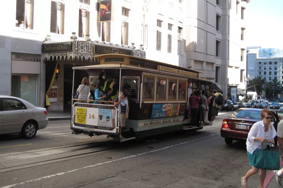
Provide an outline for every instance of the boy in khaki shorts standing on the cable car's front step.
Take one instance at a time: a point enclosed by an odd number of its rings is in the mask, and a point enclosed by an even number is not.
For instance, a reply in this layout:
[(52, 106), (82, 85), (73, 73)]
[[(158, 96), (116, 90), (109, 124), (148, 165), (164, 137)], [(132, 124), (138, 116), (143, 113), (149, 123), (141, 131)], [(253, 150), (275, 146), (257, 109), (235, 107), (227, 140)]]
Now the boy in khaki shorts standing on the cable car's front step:
[(125, 140), (122, 137), (122, 127), (125, 127), (126, 119), (129, 118), (129, 101), (127, 99), (128, 92), (122, 91), (121, 94), (114, 100), (114, 107), (118, 106), (119, 110), (119, 137), (120, 140)]

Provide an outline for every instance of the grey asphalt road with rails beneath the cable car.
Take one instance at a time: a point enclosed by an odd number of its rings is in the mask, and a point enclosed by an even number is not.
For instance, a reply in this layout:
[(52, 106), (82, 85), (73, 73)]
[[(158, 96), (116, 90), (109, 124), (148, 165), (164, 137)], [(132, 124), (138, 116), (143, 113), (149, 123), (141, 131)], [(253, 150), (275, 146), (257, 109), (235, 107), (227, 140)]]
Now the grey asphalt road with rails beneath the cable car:
[[(228, 146), (213, 126), (151, 142), (116, 143), (106, 137), (72, 135), (69, 121), (49, 122), (31, 140), (0, 139), (0, 188), (233, 188), (250, 169), (245, 142)], [(258, 187), (258, 176), (249, 187)]]

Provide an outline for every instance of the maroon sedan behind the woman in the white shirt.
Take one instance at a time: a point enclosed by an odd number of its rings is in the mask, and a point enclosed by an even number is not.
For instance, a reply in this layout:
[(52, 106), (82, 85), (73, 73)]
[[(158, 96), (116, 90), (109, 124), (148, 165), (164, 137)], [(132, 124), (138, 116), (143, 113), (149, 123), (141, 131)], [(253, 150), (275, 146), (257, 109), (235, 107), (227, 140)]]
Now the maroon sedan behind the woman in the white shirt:
[[(246, 140), (248, 133), (255, 122), (261, 121), (262, 109), (256, 108), (241, 108), (232, 113), (229, 117), (223, 120), (220, 130), (221, 137), (225, 138), (226, 144), (231, 144), (233, 140)], [(278, 116), (272, 111), (274, 127), (277, 131), (277, 124), (279, 122)], [(275, 137), (275, 145), (277, 139)]]

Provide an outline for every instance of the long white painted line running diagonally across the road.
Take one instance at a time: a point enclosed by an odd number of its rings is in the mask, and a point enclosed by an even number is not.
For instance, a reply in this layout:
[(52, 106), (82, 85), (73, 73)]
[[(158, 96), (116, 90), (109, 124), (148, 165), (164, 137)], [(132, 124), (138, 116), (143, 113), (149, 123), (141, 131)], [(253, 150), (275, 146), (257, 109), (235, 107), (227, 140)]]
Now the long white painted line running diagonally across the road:
[(112, 161), (107, 161), (107, 162), (103, 162), (103, 163), (97, 163), (97, 164), (94, 164), (94, 165), (89, 165), (89, 166), (85, 166), (85, 167), (82, 167), (82, 168), (77, 168), (77, 169), (70, 170), (70, 171), (67, 171), (67, 172), (62, 172), (62, 173), (59, 173), (59, 174), (52, 174), (52, 175), (49, 175), (49, 176), (44, 176), (44, 177), (40, 177), (40, 178), (37, 178), (37, 179), (24, 181), (24, 182), (21, 182), (21, 183), (15, 183), (15, 184), (12, 184), (12, 185), (3, 186), (1, 188), (11, 188), (11, 187), (15, 187), (15, 186), (18, 186), (18, 185), (24, 185), (26, 183), (30, 183), (30, 182), (34, 182), (34, 181), (48, 179), (50, 177), (60, 176), (60, 175), (63, 175), (63, 174), (69, 174), (69, 173), (76, 172), (76, 171), (79, 171), (79, 170), (84, 170), (86, 168), (92, 168), (92, 167), (99, 166), (99, 165), (104, 165), (104, 164), (107, 164), (107, 163), (112, 163), (112, 162), (121, 161), (121, 160), (124, 160), (124, 159), (129, 159), (129, 158), (145, 155), (145, 154), (148, 154), (148, 153), (153, 153), (153, 152), (161, 151), (161, 150), (168, 149), (168, 148), (171, 148), (171, 147), (180, 146), (180, 145), (183, 145), (183, 144), (186, 144), (186, 143), (190, 143), (190, 142), (193, 142), (193, 141), (196, 141), (196, 140), (201, 140), (201, 139), (204, 139), (204, 138), (207, 138), (207, 137), (211, 137), (211, 136), (215, 136), (215, 135), (218, 135), (218, 134), (219, 133), (211, 134), (211, 135), (208, 135), (206, 137), (200, 137), (200, 138), (197, 138), (195, 140), (190, 140), (190, 141), (187, 141), (187, 142), (178, 143), (178, 144), (167, 146), (167, 147), (164, 147), (164, 148), (161, 148), (161, 149), (155, 149), (155, 150), (152, 150), (152, 151), (149, 151), (149, 152), (139, 153), (137, 155), (132, 155), (132, 156), (129, 156), (129, 157), (123, 157), (123, 158), (115, 159), (115, 160), (112, 160)]

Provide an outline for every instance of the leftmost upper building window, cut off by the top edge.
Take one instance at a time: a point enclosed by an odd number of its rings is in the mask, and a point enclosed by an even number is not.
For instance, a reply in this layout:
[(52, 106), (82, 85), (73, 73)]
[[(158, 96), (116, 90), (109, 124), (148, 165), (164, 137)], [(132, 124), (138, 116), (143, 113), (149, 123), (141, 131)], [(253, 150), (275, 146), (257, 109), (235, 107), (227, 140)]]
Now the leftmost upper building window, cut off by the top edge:
[(16, 27), (33, 29), (33, 0), (17, 0)]

